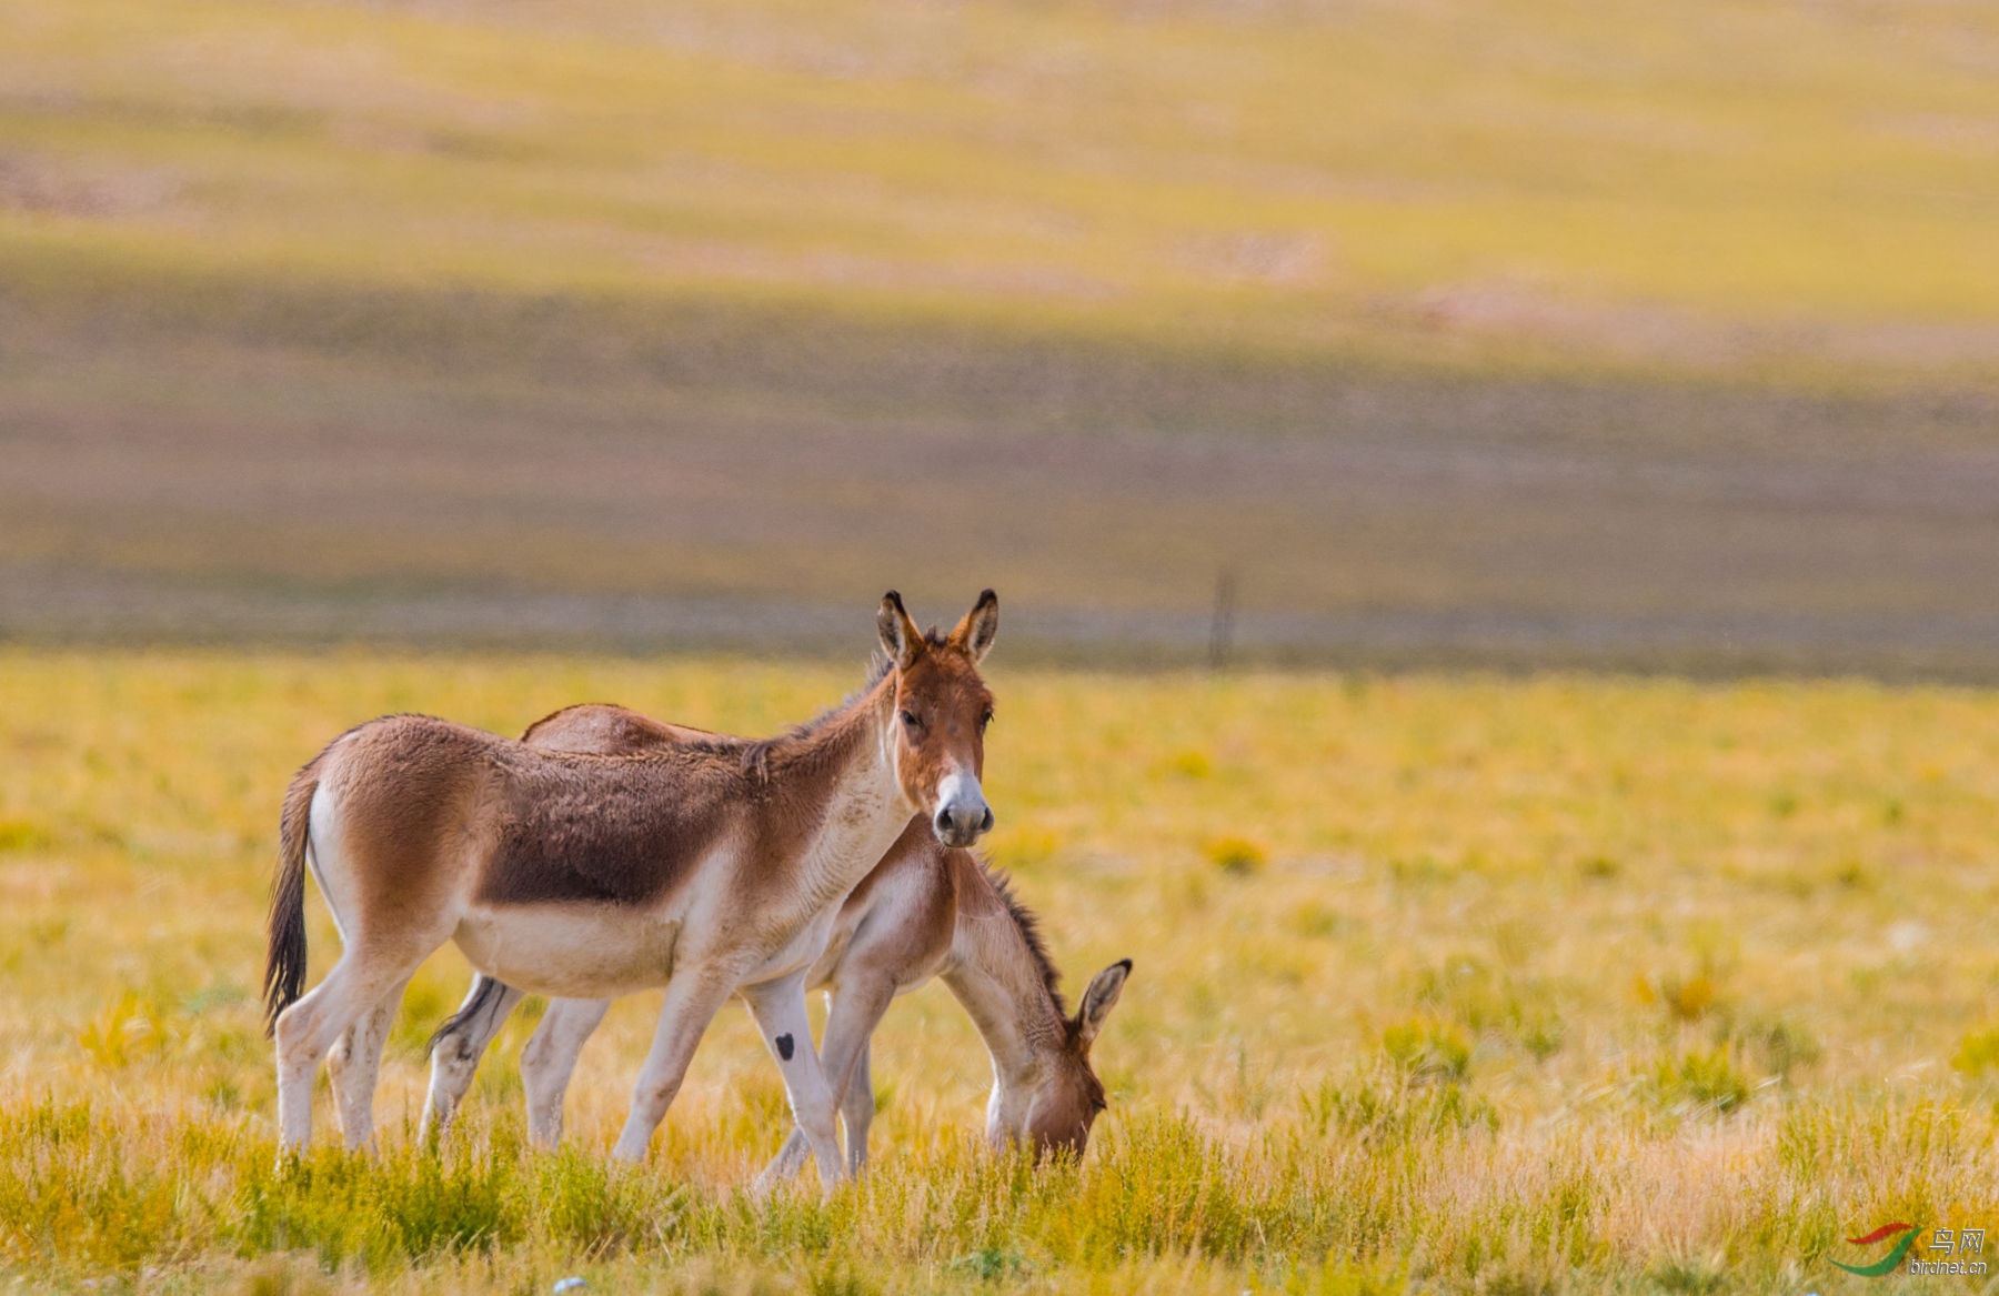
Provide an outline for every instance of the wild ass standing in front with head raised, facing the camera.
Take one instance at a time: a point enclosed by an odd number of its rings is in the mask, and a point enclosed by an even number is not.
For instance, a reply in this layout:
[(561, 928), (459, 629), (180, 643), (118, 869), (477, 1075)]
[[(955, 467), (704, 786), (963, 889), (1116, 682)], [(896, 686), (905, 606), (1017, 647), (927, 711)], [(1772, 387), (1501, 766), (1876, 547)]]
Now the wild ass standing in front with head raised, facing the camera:
[[(428, 716), (336, 738), (284, 796), (264, 1002), (278, 1044), (280, 1146), (312, 1138), (328, 1060), (348, 1146), (374, 1138), (382, 1042), (410, 974), (446, 940), (508, 986), (610, 998), (666, 986), (614, 1156), (638, 1160), (716, 1010), (742, 994), (798, 1124), (836, 1182), (834, 1094), (806, 974), (848, 892), (912, 816), (950, 846), (992, 828), (980, 790), (1000, 626), (986, 590), (950, 636), (890, 592), (888, 662), (840, 710), (766, 742), (712, 738), (636, 756), (552, 752)], [(342, 954), (312, 994), (304, 874)]]

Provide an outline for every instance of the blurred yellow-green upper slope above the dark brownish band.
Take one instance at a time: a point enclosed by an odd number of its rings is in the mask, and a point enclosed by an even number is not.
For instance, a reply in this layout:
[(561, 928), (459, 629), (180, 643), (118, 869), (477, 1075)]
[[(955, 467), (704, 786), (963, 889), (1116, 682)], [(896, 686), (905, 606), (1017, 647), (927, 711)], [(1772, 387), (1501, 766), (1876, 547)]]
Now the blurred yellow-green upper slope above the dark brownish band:
[(18, 0), (0, 266), (1989, 376), (1995, 56), (1857, 0)]

